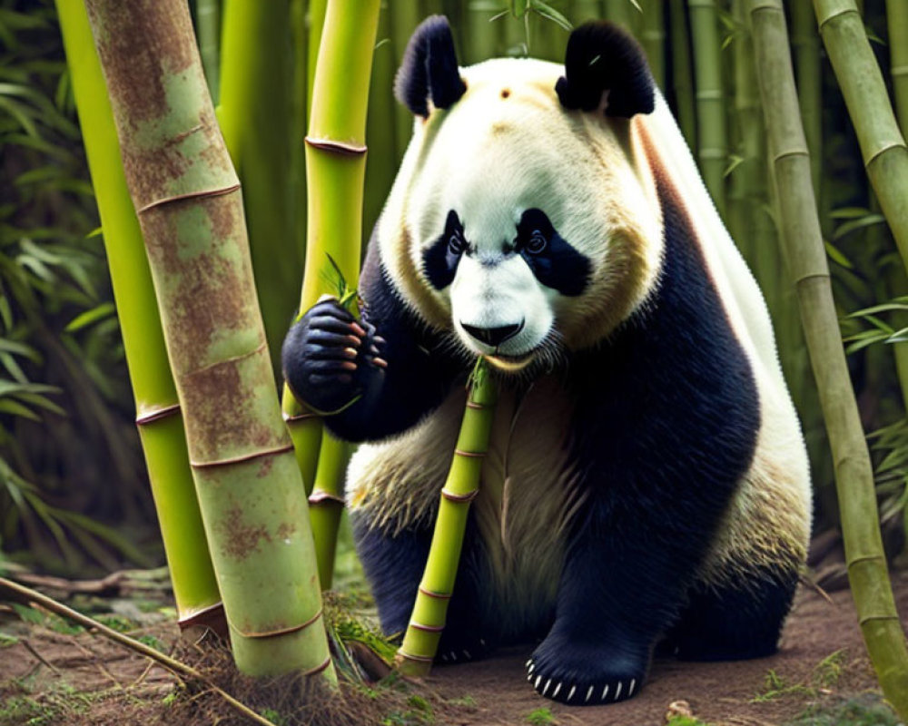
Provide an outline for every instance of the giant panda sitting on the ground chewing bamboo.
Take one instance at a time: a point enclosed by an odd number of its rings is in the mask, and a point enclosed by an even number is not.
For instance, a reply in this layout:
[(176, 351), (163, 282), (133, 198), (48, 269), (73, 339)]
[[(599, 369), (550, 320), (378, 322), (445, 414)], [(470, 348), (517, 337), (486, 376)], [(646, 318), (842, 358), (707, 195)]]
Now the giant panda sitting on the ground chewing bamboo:
[[(564, 65), (459, 68), (410, 40), (413, 136), (367, 250), (361, 320), (294, 324), (291, 390), (350, 462), (386, 633), (408, 624), (477, 356), (498, 377), (439, 660), (529, 643), (570, 704), (637, 695), (656, 647), (774, 652), (809, 534), (770, 321), (644, 55), (582, 25)], [(535, 646), (533, 645), (535, 643)]]

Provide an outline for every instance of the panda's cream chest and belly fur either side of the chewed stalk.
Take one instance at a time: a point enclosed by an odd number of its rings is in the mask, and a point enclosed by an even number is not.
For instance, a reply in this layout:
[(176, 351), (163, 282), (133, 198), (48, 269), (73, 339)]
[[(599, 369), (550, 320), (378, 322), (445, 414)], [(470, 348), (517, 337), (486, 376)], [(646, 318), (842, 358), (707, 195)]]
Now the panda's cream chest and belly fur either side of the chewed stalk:
[[(494, 584), (488, 607), (507, 608), (515, 614), (508, 625), (523, 632), (552, 612), (566, 530), (583, 504), (570, 456), (574, 402), (556, 378), (499, 388), (468, 536), (482, 540)], [(458, 388), (402, 437), (360, 446), (350, 462), (350, 508), (389, 534), (434, 522), (465, 403)]]

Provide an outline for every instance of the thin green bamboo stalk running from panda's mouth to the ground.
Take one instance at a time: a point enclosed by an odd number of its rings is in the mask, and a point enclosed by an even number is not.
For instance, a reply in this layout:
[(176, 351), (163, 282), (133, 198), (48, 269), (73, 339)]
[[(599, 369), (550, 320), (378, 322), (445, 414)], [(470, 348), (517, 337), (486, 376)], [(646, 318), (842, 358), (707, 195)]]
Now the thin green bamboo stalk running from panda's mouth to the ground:
[(396, 658), (398, 669), (406, 675), (428, 675), (439, 648), (448, 603), (454, 592), (469, 503), (479, 493), (483, 457), (489, 451), (497, 399), (498, 389), (489, 364), (480, 358), (471, 380), (448, 478), (441, 489), (426, 569)]

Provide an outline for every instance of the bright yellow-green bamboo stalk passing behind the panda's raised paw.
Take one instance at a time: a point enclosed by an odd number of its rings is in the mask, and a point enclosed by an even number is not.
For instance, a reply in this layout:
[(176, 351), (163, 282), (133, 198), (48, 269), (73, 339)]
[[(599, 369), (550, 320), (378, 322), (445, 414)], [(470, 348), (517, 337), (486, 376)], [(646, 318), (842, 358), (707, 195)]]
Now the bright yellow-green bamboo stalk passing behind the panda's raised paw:
[[(366, 108), (379, 8), (380, 0), (364, 0), (358, 13), (350, 13), (342, 0), (328, 2), (306, 137), (306, 177), (310, 190), (319, 193), (309, 194), (307, 200), (301, 311), (323, 295), (336, 295), (338, 273), (351, 289), (360, 276)], [(321, 443), (321, 419), (303, 407), (286, 385), (283, 412), (307, 486), (326, 476), (316, 473), (316, 463), (319, 468), (333, 467), (341, 476), (342, 465), (335, 457), (343, 456), (343, 449), (331, 443), (336, 439)], [(327, 458), (326, 451), (331, 451)], [(336, 537), (335, 526), (316, 541), (317, 551), (332, 551)], [(330, 581), (329, 572), (320, 572)]]

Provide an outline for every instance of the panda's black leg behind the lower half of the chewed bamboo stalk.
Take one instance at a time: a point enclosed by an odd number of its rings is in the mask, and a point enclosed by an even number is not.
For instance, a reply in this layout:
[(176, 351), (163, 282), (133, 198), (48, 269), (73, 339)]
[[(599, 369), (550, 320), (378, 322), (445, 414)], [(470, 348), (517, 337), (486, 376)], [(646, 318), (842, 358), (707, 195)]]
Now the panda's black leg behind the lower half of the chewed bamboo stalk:
[[(388, 636), (401, 634), (410, 623), (429, 554), (431, 530), (406, 528), (389, 535), (379, 527), (370, 526), (368, 517), (362, 513), (354, 513), (351, 519), (360, 562), (378, 606), (381, 629)], [(482, 564), (482, 545), (478, 533), (471, 532), (472, 529), (470, 520), (436, 656), (440, 662), (479, 660), (498, 641), (497, 629), (480, 617), (479, 596), (487, 592), (484, 588), (488, 585), (484, 585), (487, 575)]]

